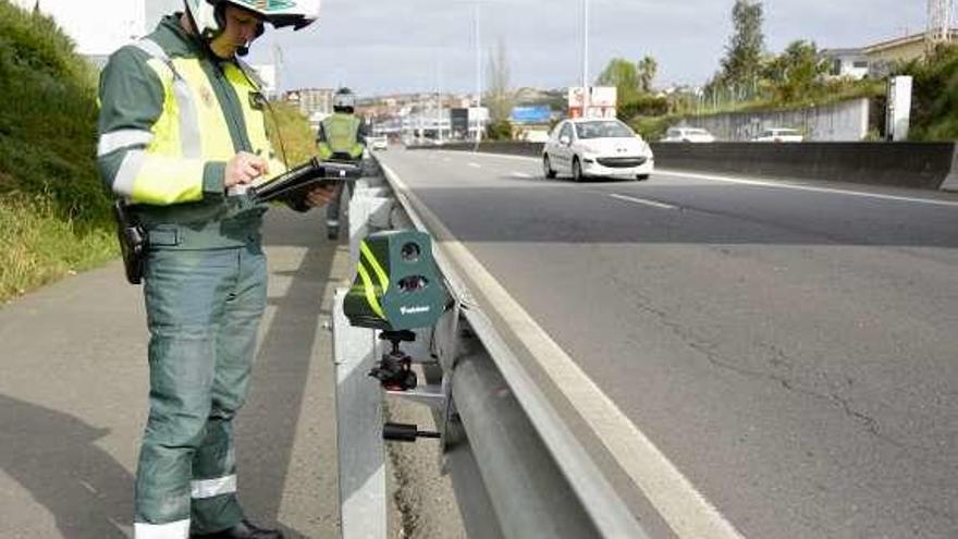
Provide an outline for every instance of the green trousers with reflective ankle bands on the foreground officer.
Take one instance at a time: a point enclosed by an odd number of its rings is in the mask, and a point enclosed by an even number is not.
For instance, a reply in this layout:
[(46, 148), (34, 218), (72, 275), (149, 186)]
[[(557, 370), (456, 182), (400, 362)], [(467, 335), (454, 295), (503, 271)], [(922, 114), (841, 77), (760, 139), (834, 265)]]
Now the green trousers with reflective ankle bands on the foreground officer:
[(136, 536), (229, 528), (243, 517), (233, 417), (246, 400), (266, 306), (266, 257), (257, 243), (159, 249), (144, 277), (150, 409), (136, 470)]

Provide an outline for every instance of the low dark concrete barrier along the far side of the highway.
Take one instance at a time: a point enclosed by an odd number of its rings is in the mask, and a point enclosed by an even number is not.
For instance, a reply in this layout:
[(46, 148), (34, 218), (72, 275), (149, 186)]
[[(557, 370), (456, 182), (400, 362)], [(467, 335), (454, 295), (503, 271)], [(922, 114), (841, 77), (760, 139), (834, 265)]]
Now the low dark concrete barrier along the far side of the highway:
[[(538, 157), (541, 143), (488, 142), (479, 151)], [(472, 144), (429, 149), (469, 150)], [(725, 174), (958, 192), (956, 143), (653, 143), (655, 166)]]

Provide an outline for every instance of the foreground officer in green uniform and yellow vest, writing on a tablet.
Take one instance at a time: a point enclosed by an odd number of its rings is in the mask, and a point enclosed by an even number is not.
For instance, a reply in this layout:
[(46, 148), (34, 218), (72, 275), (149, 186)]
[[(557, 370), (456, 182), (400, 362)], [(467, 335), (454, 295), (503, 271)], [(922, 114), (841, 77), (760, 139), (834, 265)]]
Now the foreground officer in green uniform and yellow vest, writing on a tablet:
[[(98, 164), (148, 237), (149, 418), (136, 471), (136, 539), (282, 538), (236, 499), (233, 417), (266, 305), (260, 224), (244, 189), (283, 172), (263, 99), (237, 56), (263, 30), (302, 28), (319, 0), (185, 0), (100, 78)], [(308, 206), (328, 203), (316, 188)]]

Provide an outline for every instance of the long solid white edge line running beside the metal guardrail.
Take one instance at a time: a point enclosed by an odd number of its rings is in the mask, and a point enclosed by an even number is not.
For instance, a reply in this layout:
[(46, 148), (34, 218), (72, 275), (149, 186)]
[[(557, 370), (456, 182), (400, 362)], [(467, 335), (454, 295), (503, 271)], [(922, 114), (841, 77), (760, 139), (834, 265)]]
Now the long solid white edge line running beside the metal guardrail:
[(437, 224), (437, 244), (476, 283), (506, 326), (529, 351), (616, 463), (646, 494), (680, 539), (744, 539), (744, 536), (672, 464), (651, 440), (582, 371), (482, 264), (442, 225), (389, 167), (396, 185)]

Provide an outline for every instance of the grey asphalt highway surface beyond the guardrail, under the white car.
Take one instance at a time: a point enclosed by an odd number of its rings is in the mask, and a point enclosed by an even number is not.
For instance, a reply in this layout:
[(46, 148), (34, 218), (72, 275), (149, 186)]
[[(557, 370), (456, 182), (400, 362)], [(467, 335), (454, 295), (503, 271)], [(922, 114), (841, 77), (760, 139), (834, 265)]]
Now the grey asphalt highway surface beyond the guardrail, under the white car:
[(958, 196), (379, 158), (742, 536), (958, 537)]

